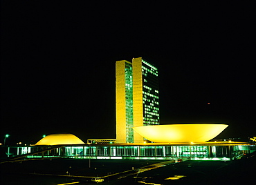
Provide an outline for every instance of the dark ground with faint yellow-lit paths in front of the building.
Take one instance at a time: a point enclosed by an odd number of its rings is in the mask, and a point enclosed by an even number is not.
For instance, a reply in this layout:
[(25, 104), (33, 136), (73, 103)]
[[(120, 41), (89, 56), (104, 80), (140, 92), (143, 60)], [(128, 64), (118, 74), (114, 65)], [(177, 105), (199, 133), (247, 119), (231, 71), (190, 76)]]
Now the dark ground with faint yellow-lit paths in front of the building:
[(101, 184), (117, 185), (253, 184), (256, 171), (255, 155), (233, 162), (186, 161), (159, 168), (150, 166), (159, 162), (163, 161), (91, 159), (89, 164), (89, 159), (44, 159), (8, 162), (0, 164), (0, 184), (92, 184), (91, 177), (103, 177)]

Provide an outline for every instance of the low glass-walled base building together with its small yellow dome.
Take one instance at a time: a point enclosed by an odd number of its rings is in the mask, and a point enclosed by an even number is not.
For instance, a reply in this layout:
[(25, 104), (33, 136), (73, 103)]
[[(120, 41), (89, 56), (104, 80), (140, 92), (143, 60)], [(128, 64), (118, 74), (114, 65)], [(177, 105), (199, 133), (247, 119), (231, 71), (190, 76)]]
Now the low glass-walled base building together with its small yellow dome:
[(15, 161), (15, 159), (47, 157), (75, 159), (172, 159), (176, 162), (184, 160), (229, 161), (239, 159), (239, 157), (245, 154), (256, 151), (255, 143), (245, 142), (115, 144), (109, 141), (91, 141), (84, 144), (75, 135), (56, 134), (44, 137), (34, 146), (0, 147), (6, 150), (8, 157), (12, 157), (7, 162)]

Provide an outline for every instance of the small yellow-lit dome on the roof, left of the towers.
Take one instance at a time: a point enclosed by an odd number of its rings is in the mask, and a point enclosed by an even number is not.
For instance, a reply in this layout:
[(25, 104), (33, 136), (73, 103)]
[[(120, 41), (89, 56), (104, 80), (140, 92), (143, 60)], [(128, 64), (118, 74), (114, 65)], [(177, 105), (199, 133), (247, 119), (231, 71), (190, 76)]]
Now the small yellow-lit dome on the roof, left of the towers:
[(81, 139), (72, 134), (51, 134), (42, 138), (35, 145), (84, 144)]

